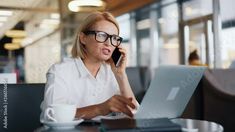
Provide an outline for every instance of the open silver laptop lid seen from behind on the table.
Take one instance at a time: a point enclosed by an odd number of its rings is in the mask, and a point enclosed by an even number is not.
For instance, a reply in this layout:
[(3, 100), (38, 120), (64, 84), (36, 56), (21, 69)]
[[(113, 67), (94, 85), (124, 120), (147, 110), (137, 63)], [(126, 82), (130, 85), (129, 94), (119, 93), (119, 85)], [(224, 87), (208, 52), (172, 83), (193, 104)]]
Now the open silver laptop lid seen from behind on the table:
[(177, 118), (183, 113), (205, 67), (160, 66), (134, 118)]

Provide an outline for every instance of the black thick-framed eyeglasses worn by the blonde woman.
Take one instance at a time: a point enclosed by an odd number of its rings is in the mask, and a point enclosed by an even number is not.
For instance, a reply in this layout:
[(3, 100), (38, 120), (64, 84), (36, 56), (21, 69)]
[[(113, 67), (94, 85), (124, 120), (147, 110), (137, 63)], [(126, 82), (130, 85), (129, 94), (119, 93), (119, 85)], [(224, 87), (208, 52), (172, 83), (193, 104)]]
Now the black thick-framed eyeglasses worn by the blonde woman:
[(107, 41), (108, 38), (110, 38), (110, 42), (114, 47), (118, 47), (122, 42), (122, 37), (119, 37), (117, 35), (109, 35), (106, 32), (102, 31), (85, 31), (84, 34), (95, 34), (95, 40), (100, 43), (103, 43)]

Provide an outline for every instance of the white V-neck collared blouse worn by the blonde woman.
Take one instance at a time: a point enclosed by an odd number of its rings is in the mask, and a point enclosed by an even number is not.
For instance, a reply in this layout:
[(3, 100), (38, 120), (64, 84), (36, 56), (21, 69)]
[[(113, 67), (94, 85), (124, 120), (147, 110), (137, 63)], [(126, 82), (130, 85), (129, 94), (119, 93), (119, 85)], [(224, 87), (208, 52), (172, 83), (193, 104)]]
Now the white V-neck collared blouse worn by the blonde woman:
[[(42, 112), (51, 104), (75, 104), (77, 108), (99, 104), (120, 94), (110, 65), (103, 63), (96, 78), (80, 58), (51, 66), (47, 72)], [(41, 115), (42, 117), (42, 115)]]

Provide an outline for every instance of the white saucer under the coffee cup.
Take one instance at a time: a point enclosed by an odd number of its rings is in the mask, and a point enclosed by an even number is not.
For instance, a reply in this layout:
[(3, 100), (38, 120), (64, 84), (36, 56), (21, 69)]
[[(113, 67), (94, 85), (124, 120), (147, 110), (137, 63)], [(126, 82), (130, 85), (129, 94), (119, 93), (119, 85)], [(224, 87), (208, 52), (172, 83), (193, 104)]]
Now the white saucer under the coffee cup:
[(42, 120), (41, 123), (48, 127), (51, 127), (52, 129), (72, 129), (83, 121), (83, 119), (75, 119), (70, 122), (53, 122)]

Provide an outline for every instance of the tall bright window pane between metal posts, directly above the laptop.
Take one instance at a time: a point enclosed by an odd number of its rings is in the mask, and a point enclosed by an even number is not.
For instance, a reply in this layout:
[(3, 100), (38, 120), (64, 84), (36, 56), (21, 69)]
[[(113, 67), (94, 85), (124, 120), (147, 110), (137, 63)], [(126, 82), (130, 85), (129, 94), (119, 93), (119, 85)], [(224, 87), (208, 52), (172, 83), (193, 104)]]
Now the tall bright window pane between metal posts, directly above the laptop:
[(159, 12), (159, 63), (179, 64), (177, 4), (163, 6)]

